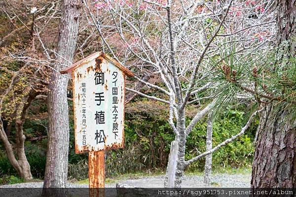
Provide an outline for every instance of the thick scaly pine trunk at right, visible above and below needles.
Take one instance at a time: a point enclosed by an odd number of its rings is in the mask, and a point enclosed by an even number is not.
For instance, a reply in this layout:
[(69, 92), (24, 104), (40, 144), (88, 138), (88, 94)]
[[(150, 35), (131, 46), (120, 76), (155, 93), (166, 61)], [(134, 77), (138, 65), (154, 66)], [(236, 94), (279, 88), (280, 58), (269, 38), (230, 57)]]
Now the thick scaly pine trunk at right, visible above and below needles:
[[(295, 56), (296, 0), (278, 0), (277, 9), (277, 45), (279, 50), (289, 45)], [(278, 56), (283, 58), (281, 53)], [(280, 106), (265, 106), (252, 169), (253, 187), (296, 187), (296, 121), (291, 113), (295, 112), (286, 108), (285, 101)]]

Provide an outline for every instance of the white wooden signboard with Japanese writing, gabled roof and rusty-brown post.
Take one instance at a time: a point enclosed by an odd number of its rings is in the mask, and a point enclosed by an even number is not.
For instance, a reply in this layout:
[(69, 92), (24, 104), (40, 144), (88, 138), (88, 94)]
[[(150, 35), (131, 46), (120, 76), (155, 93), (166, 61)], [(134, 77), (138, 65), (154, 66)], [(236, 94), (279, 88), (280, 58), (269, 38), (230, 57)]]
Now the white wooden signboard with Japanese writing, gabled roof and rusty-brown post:
[[(89, 152), (89, 187), (104, 188), (105, 150), (124, 145), (125, 76), (134, 74), (97, 52), (60, 71), (72, 72), (75, 152)], [(103, 196), (93, 194), (90, 196)]]

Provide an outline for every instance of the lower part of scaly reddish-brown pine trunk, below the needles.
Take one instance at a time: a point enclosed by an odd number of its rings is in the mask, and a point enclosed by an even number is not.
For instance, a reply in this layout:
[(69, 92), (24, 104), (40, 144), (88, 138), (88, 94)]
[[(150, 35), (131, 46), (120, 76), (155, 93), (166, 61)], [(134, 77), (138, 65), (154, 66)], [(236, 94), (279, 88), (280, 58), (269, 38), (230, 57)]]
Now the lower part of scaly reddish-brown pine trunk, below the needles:
[(252, 186), (296, 186), (296, 125), (289, 111), (266, 106), (252, 169)]

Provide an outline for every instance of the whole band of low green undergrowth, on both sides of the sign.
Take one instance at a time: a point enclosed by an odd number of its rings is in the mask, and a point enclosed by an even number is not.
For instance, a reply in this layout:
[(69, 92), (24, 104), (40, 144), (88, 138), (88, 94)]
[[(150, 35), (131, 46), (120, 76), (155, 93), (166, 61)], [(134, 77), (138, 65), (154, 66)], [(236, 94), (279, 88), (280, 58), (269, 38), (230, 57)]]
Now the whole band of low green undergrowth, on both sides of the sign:
[[(110, 150), (106, 153), (106, 175), (117, 176), (124, 173), (139, 171), (165, 170), (170, 152), (170, 143), (175, 135), (167, 121), (165, 106), (141, 100), (129, 104), (125, 120), (125, 144), (123, 149)], [(37, 107), (38, 106), (38, 107)], [(71, 106), (71, 105), (70, 105)], [(37, 110), (42, 105), (34, 106)], [(213, 125), (213, 146), (228, 137), (237, 134), (245, 123), (245, 106), (238, 109), (226, 108), (215, 119)], [(129, 110), (133, 109), (133, 110)], [(187, 114), (194, 114), (194, 108)], [(28, 119), (24, 125), (27, 139), (45, 136), (46, 119), (32, 113), (35, 119)], [(43, 114), (43, 112), (42, 112)], [(45, 116), (46, 117), (46, 116)], [(187, 117), (189, 122), (191, 118)], [(43, 126), (42, 126), (43, 125)], [(255, 128), (251, 128), (238, 140), (222, 147), (213, 154), (213, 168), (250, 166), (253, 159), (253, 139)], [(12, 135), (13, 137), (13, 135)], [(185, 158), (190, 159), (205, 150), (206, 121), (200, 121), (187, 139)], [(13, 141), (13, 138), (11, 138)], [(46, 161), (47, 139), (26, 141), (25, 151), (35, 178), (44, 177)], [(10, 165), (6, 153), (1, 147), (0, 151), (0, 177), (5, 175), (17, 176)], [(69, 147), (69, 179), (82, 180), (88, 176), (88, 155), (75, 154), (74, 151), (74, 121), (70, 109), (70, 147)], [(204, 168), (204, 159), (196, 161), (189, 166), (189, 171), (201, 171)]]

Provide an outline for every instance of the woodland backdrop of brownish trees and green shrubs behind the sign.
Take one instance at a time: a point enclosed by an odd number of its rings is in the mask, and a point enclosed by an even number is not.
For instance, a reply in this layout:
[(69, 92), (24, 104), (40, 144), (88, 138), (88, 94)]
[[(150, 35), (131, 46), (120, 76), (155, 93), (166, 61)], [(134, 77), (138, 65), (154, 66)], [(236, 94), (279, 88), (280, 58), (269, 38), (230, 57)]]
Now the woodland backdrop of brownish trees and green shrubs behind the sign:
[[(261, 17), (265, 13), (272, 15), (272, 11), (262, 7), (264, 1), (248, 1), (246, 6), (251, 6), (255, 15)], [(102, 9), (104, 4), (93, 4), (95, 9)], [(39, 94), (34, 95), (30, 107), (23, 121), (23, 131), (26, 136), (25, 154), (31, 167), (34, 178), (44, 177), (46, 151), (47, 151), (47, 128), (48, 108), (46, 104), (46, 92), (48, 83), (49, 66), (38, 69), (36, 79), (32, 80), (29, 75), (34, 75), (36, 68), (44, 63), (44, 43), (47, 47), (55, 49), (58, 36), (58, 24), (60, 18), (60, 1), (50, 2), (46, 0), (30, 1), (6, 1), (1, 2), (0, 10), (0, 58), (1, 58), (1, 88), (7, 85), (11, 78), (11, 72), (18, 71), (24, 65), (30, 64), (32, 68), (26, 68), (22, 78), (14, 84), (13, 91), (7, 96), (3, 103), (2, 122), (5, 133), (12, 146), (17, 144), (17, 126), (19, 124), (19, 110), (22, 111), (28, 101), (24, 101), (24, 95), (28, 95), (28, 89), (33, 85), (38, 88)], [(102, 7), (103, 6), (103, 7)], [(34, 10), (36, 8), (36, 10)], [(144, 10), (145, 6), (139, 6)], [(243, 9), (243, 8), (241, 8)], [(266, 9), (266, 10), (264, 10)], [(204, 12), (205, 7), (198, 6), (198, 12)], [(263, 14), (264, 13), (264, 14)], [(231, 10), (231, 15), (240, 17), (240, 9)], [(248, 15), (247, 17), (256, 17)], [(258, 17), (257, 16), (257, 17)], [(271, 17), (272, 18), (272, 17)], [(207, 23), (211, 23), (208, 21)], [(269, 23), (269, 22), (267, 22)], [(77, 39), (77, 49), (74, 59), (79, 60), (90, 55), (94, 51), (105, 50), (103, 42), (98, 39), (101, 34), (90, 28), (87, 16), (82, 12), (80, 28)], [(37, 33), (36, 33), (37, 32)], [(270, 32), (252, 32), (251, 41), (265, 43), (273, 40), (272, 30)], [(106, 32), (108, 34), (108, 32)], [(102, 35), (100, 35), (102, 36)], [(103, 36), (104, 37), (104, 36)], [(118, 43), (113, 36), (109, 38), (112, 42), (111, 48), (115, 52), (121, 52), (124, 44)], [(131, 38), (131, 41), (134, 42)], [(46, 54), (45, 54), (46, 56)], [(30, 58), (31, 59), (30, 59)], [(132, 63), (136, 63), (136, 60)], [(46, 62), (48, 63), (48, 62)], [(50, 65), (50, 63), (48, 64)], [(34, 69), (33, 69), (34, 68)], [(11, 72), (8, 72), (11, 71)], [(40, 72), (41, 71), (41, 72)], [(148, 70), (149, 71), (149, 70)], [(41, 73), (41, 74), (40, 74)], [(162, 82), (151, 75), (147, 81), (151, 84), (162, 86)], [(130, 80), (128, 86), (133, 86), (136, 81)], [(69, 179), (82, 180), (87, 178), (87, 154), (74, 153), (74, 117), (71, 83), (68, 85), (68, 104), (70, 112), (70, 147), (69, 147)], [(4, 91), (2, 88), (1, 91)], [(141, 86), (141, 92), (154, 96), (148, 86)], [(124, 173), (135, 172), (161, 172), (165, 171), (170, 151), (170, 142), (174, 140), (174, 133), (168, 119), (168, 109), (163, 103), (154, 102), (137, 94), (127, 94), (125, 111), (125, 147), (120, 150), (108, 151), (106, 154), (106, 172), (108, 177)], [(198, 100), (186, 109), (186, 122), (200, 110), (200, 106), (207, 101)], [(213, 123), (213, 146), (236, 135), (244, 126), (252, 108), (252, 102), (231, 103), (220, 112)], [(26, 109), (27, 110), (27, 109)], [(252, 125), (244, 135), (237, 140), (223, 146), (213, 153), (213, 168), (221, 169), (250, 169), (254, 157), (256, 133), (259, 117), (253, 120)], [(185, 159), (191, 159), (206, 150), (207, 118), (197, 123), (186, 141)], [(205, 160), (200, 159), (187, 167), (187, 171), (203, 171)], [(18, 173), (9, 162), (5, 149), (0, 143), (0, 183), (14, 183), (22, 181)]]

